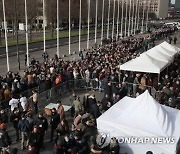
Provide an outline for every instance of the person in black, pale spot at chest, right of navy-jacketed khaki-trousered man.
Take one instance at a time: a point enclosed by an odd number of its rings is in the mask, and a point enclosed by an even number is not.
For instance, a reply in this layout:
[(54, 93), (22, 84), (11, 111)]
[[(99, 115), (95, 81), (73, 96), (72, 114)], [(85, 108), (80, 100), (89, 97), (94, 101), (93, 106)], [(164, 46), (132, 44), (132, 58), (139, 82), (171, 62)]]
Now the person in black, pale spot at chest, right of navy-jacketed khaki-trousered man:
[(48, 130), (48, 121), (47, 119), (43, 116), (43, 113), (40, 112), (38, 115), (37, 120), (35, 121), (35, 125), (39, 127), (39, 133), (40, 133), (40, 141), (41, 141), (41, 146), (44, 144), (44, 135), (46, 134)]

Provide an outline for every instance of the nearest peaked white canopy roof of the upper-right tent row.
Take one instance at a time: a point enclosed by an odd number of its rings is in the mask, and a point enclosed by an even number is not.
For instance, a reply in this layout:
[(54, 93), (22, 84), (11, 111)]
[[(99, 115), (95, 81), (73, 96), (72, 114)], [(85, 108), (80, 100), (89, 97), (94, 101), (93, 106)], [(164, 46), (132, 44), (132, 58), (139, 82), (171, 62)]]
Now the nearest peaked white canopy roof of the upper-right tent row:
[(167, 62), (155, 60), (143, 53), (140, 57), (121, 65), (120, 70), (160, 74), (166, 66)]

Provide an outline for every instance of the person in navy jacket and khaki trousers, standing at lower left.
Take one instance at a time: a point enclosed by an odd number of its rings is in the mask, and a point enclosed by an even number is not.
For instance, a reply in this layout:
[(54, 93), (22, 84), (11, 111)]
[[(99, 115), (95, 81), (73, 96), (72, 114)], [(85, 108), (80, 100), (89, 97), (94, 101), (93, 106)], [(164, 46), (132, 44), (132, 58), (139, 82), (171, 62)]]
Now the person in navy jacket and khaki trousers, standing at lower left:
[(26, 119), (24, 113), (22, 113), (21, 120), (18, 123), (18, 129), (21, 132), (21, 149), (23, 150), (29, 144), (29, 121)]

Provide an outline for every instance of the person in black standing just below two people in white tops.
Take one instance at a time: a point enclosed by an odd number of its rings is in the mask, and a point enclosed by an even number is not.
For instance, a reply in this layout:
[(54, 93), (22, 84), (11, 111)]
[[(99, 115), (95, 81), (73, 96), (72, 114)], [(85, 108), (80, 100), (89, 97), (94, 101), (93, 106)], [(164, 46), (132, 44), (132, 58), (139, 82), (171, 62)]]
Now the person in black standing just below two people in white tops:
[(16, 131), (16, 142), (19, 141), (18, 123), (20, 119), (21, 119), (21, 113), (19, 112), (19, 109), (14, 108), (13, 113), (10, 116), (10, 121), (13, 123), (14, 129)]

